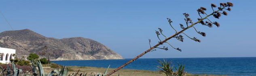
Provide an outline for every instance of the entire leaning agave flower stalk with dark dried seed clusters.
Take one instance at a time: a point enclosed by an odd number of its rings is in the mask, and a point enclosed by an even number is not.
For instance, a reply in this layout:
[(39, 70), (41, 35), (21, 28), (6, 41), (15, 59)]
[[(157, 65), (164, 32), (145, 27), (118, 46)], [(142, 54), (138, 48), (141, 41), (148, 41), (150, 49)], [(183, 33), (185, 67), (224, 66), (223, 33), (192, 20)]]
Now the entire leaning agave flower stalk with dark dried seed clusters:
[[(168, 22), (169, 22), (169, 25), (171, 26), (171, 28), (175, 31), (175, 34), (174, 35), (171, 35), (170, 37), (166, 37), (164, 34), (163, 34), (163, 30), (161, 28), (158, 28), (159, 31), (156, 31), (155, 33), (157, 34), (157, 38), (159, 39), (159, 43), (154, 45), (154, 46), (151, 46), (150, 42), (151, 40), (149, 40), (149, 45), (150, 45), (150, 48), (146, 51), (144, 51), (143, 53), (141, 53), (140, 55), (136, 56), (135, 58), (133, 58), (132, 60), (130, 60), (129, 62), (123, 64), (122, 66), (116, 68), (115, 70), (113, 70), (112, 72), (110, 72), (109, 74), (107, 74), (106, 76), (110, 76), (112, 74), (114, 74), (116, 71), (120, 70), (121, 68), (127, 66), (128, 64), (130, 64), (131, 62), (137, 60), (138, 58), (142, 57), (143, 55), (145, 55), (146, 53), (150, 52), (150, 51), (156, 51), (155, 48), (159, 48), (159, 49), (164, 49), (164, 50), (168, 50), (168, 47), (159, 47), (159, 45), (163, 45), (164, 43), (167, 43), (168, 45), (170, 45), (173, 49), (177, 49), (178, 51), (181, 51), (180, 48), (178, 47), (173, 47), (171, 45), (171, 43), (168, 42), (169, 39), (171, 38), (176, 38), (177, 40), (179, 41), (184, 41), (184, 38), (183, 38), (183, 35), (184, 34), (186, 37), (194, 40), (194, 41), (197, 41), (197, 42), (201, 42), (199, 39), (197, 39), (196, 37), (189, 37), (188, 35), (186, 35), (185, 33), (183, 33), (184, 31), (186, 31), (187, 29), (189, 29), (190, 27), (193, 27), (195, 29), (195, 31), (197, 33), (199, 33), (200, 35), (202, 35), (203, 37), (206, 36), (206, 34), (204, 32), (201, 32), (201, 31), (197, 31), (197, 29), (194, 27), (194, 25), (196, 24), (201, 24), (201, 25), (204, 25), (204, 26), (207, 26), (207, 27), (213, 27), (214, 25), (216, 25), (217, 27), (220, 27), (220, 24), (216, 21), (212, 22), (208, 19), (209, 16), (213, 15), (214, 18), (220, 18), (220, 16), (223, 14), (223, 15), (228, 15), (228, 13), (225, 11), (225, 10), (228, 10), (228, 11), (231, 11), (231, 8), (230, 7), (233, 7), (233, 4), (231, 2), (226, 2), (226, 3), (220, 3), (220, 6), (217, 7), (215, 4), (211, 4), (211, 7), (212, 7), (212, 13), (211, 14), (207, 14), (205, 11), (207, 10), (206, 8), (204, 7), (200, 7), (199, 9), (197, 9), (197, 12), (198, 12), (198, 15), (200, 18), (198, 18), (196, 22), (193, 22), (191, 18), (189, 18), (189, 14), (188, 13), (183, 13), (183, 15), (185, 16), (184, 18), (184, 21), (186, 22), (185, 26), (183, 24), (179, 24), (180, 27), (182, 28), (181, 31), (177, 31), (176, 29), (174, 29), (173, 25), (171, 25), (171, 23), (173, 21), (171, 21), (170, 18), (167, 18)], [(204, 17), (202, 17), (204, 16)], [(164, 40), (161, 40), (160, 37), (165, 37)]]

